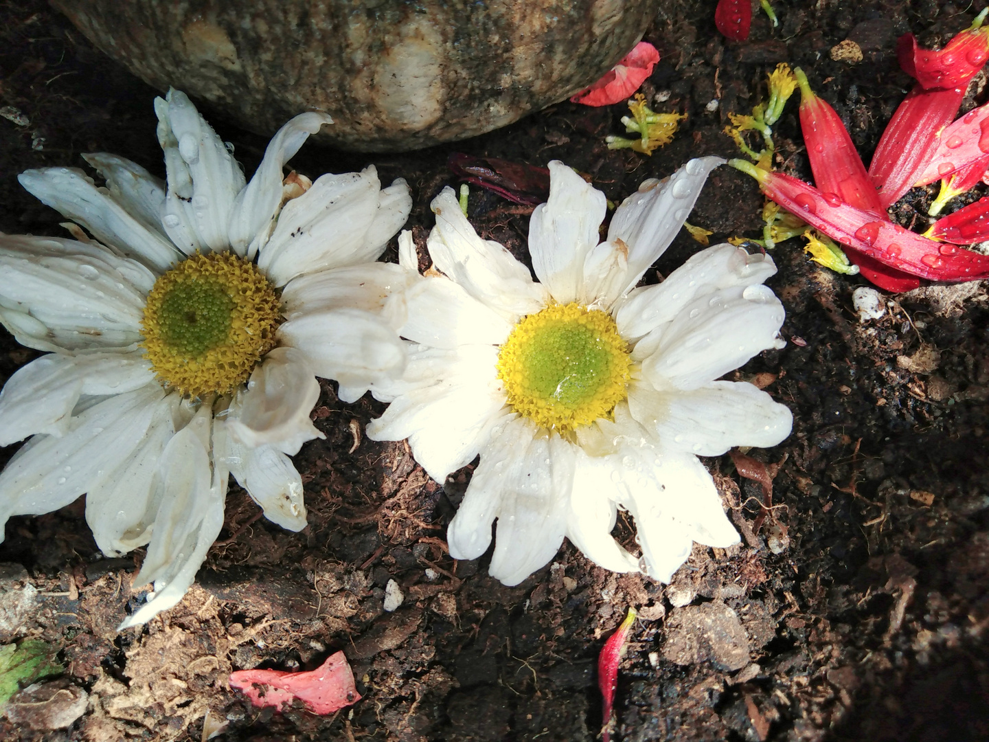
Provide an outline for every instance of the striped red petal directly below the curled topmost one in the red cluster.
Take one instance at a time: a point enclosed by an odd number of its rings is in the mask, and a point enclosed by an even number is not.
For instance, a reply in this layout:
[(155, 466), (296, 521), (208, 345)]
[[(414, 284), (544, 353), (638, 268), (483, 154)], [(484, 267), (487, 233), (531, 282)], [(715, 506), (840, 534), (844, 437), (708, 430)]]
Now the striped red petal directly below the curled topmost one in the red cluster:
[(868, 168), (883, 209), (917, 182), (938, 147), (938, 133), (957, 115), (964, 92), (963, 88), (923, 90), (917, 85), (896, 109)]

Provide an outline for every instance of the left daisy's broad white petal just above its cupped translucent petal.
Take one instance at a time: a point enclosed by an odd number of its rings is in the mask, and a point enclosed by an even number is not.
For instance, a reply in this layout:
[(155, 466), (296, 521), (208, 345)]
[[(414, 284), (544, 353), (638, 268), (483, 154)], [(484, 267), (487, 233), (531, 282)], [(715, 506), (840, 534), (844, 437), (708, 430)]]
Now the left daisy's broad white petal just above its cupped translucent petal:
[(278, 328), (283, 345), (300, 348), (316, 376), (349, 387), (398, 377), (405, 368), (405, 345), (380, 316), (356, 309), (315, 312)]

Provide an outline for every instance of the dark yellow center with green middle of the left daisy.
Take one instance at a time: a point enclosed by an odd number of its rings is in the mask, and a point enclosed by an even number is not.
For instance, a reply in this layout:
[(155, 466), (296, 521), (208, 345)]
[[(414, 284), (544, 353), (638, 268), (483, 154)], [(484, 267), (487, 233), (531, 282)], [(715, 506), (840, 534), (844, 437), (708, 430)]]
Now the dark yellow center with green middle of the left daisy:
[(144, 357), (162, 384), (182, 394), (229, 394), (274, 347), (278, 308), (274, 288), (249, 260), (193, 255), (147, 295)]

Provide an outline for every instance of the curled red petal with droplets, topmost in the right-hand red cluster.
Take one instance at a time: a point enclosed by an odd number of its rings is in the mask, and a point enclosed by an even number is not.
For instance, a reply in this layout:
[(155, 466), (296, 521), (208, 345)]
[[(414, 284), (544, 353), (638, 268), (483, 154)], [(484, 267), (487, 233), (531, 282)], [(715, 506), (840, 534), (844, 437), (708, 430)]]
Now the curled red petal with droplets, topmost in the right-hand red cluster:
[(896, 56), (925, 90), (963, 88), (989, 59), (989, 29), (962, 31), (939, 51), (921, 48), (913, 34), (905, 34), (896, 43)]

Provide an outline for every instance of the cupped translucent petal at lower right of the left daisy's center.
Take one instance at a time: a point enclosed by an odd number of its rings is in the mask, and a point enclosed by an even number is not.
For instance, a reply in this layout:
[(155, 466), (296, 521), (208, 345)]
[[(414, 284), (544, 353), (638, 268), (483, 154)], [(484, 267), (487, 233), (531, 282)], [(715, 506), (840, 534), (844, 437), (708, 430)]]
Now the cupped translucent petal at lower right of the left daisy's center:
[(326, 437), (310, 419), (318, 399), (319, 382), (305, 354), (275, 348), (254, 368), (246, 391), (237, 393), (226, 429), (248, 448), (271, 445), (295, 455), (307, 440)]

